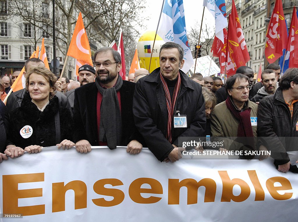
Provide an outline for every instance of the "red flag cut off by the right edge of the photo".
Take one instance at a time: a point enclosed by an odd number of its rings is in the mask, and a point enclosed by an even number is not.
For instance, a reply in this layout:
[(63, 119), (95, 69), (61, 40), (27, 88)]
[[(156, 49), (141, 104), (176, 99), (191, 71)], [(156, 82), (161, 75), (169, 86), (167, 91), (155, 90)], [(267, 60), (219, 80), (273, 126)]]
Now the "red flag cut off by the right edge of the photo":
[(298, 67), (298, 19), (296, 8), (293, 9), (287, 50), (290, 52), (289, 68)]

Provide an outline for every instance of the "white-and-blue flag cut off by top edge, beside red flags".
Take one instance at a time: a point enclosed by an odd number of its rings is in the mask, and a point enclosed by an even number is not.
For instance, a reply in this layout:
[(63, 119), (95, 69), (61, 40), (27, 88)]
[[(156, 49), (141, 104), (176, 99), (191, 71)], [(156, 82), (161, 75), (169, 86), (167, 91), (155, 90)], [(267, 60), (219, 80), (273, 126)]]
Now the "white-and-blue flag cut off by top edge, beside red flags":
[(223, 29), (228, 26), (225, 0), (204, 0), (203, 6), (207, 7), (215, 18), (215, 36), (224, 43)]

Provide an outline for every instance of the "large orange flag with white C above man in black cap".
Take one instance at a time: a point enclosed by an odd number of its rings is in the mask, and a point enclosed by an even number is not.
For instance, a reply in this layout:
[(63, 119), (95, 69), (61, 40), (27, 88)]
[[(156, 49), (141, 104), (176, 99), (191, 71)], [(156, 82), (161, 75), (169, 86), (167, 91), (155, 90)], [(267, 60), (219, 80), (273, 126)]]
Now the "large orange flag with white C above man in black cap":
[(77, 24), (75, 25), (75, 30), (69, 44), (67, 55), (93, 66), (90, 45), (81, 13), (77, 18)]

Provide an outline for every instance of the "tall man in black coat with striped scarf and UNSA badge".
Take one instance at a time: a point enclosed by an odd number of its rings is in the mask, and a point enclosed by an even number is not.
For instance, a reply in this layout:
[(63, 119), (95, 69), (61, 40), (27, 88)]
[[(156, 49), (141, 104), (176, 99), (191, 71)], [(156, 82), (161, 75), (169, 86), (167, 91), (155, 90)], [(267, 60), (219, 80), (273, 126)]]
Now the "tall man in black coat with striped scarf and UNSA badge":
[(202, 136), (205, 131), (202, 88), (179, 70), (184, 65), (183, 55), (179, 44), (165, 43), (159, 50), (160, 67), (136, 83), (136, 128), (161, 162), (182, 157), (185, 148), (178, 147), (179, 136)]

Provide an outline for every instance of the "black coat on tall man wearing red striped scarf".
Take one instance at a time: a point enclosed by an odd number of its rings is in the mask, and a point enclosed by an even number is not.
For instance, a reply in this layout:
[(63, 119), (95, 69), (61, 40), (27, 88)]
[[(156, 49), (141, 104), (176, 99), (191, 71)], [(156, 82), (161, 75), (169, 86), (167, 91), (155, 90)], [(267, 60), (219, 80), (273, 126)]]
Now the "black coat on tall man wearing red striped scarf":
[(173, 149), (172, 144), (178, 146), (179, 136), (204, 135), (206, 115), (202, 87), (181, 72), (181, 86), (174, 115), (176, 111), (180, 111), (180, 115), (186, 115), (187, 128), (172, 127), (171, 144), (166, 139), (168, 112), (159, 72), (160, 68), (157, 68), (136, 83), (133, 112), (136, 128), (146, 145), (158, 160), (163, 161), (165, 155)]

